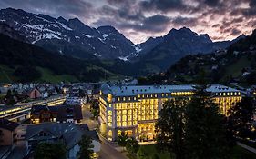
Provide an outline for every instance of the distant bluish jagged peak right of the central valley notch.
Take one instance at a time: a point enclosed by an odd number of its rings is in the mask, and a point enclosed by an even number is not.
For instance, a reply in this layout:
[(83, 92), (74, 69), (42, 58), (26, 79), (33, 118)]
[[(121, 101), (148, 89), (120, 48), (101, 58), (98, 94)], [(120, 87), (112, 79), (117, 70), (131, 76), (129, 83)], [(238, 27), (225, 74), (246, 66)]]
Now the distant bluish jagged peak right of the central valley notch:
[[(243, 38), (243, 36), (239, 38)], [(148, 53), (140, 54), (138, 58), (141, 63), (150, 65), (150, 69), (161, 71), (185, 55), (209, 54), (216, 50), (225, 49), (234, 42), (236, 40), (212, 42), (209, 35), (198, 35), (189, 28), (183, 27), (179, 30), (171, 29), (165, 36), (148, 39), (142, 44), (142, 50), (147, 49)]]

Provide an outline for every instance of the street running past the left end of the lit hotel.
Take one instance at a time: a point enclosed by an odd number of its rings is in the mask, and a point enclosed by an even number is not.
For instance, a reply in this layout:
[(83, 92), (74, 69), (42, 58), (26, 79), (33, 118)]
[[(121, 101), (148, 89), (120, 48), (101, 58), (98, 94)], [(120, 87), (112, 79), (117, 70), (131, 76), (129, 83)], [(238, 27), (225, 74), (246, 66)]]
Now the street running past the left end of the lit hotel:
[[(90, 119), (91, 114), (89, 104), (85, 104), (82, 107), (82, 114), (84, 118), (81, 121), (82, 124), (87, 124), (90, 130), (94, 130), (95, 128), (97, 128), (97, 120)], [(99, 152), (100, 159), (128, 159), (128, 157), (126, 157), (125, 154), (122, 154), (116, 150), (116, 144), (108, 142), (108, 140), (103, 138), (101, 135), (98, 136), (101, 141), (101, 147)]]

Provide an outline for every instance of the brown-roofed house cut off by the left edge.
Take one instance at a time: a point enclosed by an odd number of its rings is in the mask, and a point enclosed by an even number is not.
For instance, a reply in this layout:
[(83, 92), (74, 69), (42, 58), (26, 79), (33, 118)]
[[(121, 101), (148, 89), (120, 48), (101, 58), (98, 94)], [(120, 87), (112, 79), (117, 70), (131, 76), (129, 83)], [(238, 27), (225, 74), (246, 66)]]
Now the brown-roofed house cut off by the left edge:
[(19, 124), (0, 118), (0, 145), (13, 145), (16, 128)]

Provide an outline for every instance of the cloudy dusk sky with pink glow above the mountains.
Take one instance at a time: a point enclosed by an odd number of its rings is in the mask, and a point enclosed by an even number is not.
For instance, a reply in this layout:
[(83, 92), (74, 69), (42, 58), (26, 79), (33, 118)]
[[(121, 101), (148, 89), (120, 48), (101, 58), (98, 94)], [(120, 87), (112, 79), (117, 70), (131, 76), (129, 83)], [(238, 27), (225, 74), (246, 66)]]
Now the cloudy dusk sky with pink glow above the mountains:
[(256, 0), (0, 0), (0, 8), (113, 25), (134, 43), (186, 26), (211, 39), (250, 35), (256, 28)]

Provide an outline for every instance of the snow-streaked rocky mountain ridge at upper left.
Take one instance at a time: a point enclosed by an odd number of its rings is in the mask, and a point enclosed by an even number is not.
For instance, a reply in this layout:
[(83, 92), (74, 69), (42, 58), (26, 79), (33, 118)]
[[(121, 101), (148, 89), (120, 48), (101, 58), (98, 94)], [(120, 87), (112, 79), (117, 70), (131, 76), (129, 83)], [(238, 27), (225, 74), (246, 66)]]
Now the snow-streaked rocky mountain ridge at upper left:
[(124, 59), (137, 54), (137, 47), (112, 26), (92, 28), (78, 18), (53, 18), (13, 8), (0, 10), (0, 21), (26, 36), (30, 43), (61, 55)]

